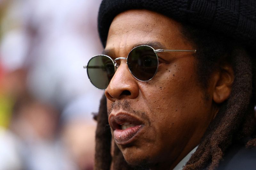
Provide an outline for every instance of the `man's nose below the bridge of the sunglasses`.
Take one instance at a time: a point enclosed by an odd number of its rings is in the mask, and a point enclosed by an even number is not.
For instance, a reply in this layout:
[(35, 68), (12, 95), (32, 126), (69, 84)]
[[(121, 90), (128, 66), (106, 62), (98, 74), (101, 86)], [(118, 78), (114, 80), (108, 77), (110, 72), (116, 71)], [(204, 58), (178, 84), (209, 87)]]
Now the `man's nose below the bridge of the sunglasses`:
[(138, 80), (136, 80), (129, 71), (126, 60), (122, 60), (116, 73), (112, 77), (107, 89), (106, 97), (115, 101), (122, 98), (136, 98), (139, 95)]

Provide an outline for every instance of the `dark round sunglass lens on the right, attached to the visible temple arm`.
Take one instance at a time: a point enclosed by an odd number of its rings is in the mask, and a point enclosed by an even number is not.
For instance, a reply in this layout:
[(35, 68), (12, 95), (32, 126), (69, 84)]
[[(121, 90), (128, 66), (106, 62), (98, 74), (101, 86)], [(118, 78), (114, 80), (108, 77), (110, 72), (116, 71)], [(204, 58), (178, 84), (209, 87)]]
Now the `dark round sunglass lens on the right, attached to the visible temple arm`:
[(152, 79), (158, 68), (157, 55), (150, 46), (135, 47), (127, 57), (132, 75), (140, 81)]

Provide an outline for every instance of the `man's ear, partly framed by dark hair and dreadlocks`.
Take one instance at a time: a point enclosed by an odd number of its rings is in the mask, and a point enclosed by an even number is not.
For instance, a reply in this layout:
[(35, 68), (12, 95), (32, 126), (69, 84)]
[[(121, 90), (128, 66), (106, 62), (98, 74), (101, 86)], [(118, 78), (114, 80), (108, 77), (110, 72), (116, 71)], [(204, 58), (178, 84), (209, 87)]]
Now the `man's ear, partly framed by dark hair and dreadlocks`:
[(222, 103), (228, 99), (234, 81), (234, 71), (231, 65), (225, 64), (221, 66), (214, 79), (213, 101), (215, 103)]

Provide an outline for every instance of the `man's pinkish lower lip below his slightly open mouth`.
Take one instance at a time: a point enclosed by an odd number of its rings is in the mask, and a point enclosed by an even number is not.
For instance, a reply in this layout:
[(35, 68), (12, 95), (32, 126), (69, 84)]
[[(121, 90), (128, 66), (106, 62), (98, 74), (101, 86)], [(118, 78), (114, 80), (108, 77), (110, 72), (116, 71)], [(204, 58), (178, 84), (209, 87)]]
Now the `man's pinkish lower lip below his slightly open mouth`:
[(142, 125), (137, 125), (134, 127), (129, 127), (125, 130), (122, 130), (122, 129), (114, 130), (114, 138), (115, 138), (116, 144), (126, 145), (132, 142), (132, 138), (136, 136), (136, 134), (138, 134), (141, 128), (142, 128)]

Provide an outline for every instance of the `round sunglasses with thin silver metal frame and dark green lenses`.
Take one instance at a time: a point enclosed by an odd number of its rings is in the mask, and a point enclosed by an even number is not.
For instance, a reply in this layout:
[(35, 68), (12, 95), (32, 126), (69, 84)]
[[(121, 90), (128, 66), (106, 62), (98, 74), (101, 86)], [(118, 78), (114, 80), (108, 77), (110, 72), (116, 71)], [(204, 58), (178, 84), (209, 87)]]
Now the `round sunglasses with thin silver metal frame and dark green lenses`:
[(151, 46), (142, 45), (133, 48), (128, 54), (127, 58), (118, 57), (112, 60), (107, 55), (95, 55), (89, 61), (87, 66), (87, 75), (92, 84), (100, 89), (105, 90), (112, 77), (114, 76), (117, 67), (119, 66), (117, 60), (126, 60), (129, 71), (132, 76), (139, 81), (151, 80), (158, 69), (159, 52), (196, 52), (196, 50), (155, 50)]

